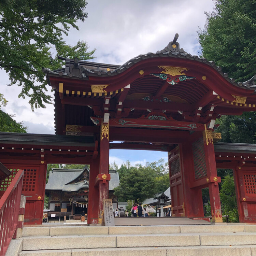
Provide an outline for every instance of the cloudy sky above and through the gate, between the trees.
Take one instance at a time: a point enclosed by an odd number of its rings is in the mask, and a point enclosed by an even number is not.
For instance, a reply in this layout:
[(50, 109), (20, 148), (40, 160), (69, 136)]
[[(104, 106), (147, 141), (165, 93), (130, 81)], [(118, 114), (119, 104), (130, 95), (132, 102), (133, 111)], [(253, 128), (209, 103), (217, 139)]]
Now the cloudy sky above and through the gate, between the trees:
[[(90, 50), (96, 48), (93, 61), (122, 65), (127, 60), (148, 52), (163, 49), (179, 33), (180, 47), (194, 55), (199, 52), (198, 27), (203, 28), (204, 12), (213, 10), (212, 0), (88, 0), (85, 23), (80, 30), (71, 29), (66, 42), (75, 45), (78, 40), (88, 42)], [(9, 101), (3, 111), (15, 114), (23, 121), (29, 133), (54, 134), (54, 108), (31, 111), (28, 99), (18, 99), (21, 88), (6, 86), (8, 75), (0, 70), (0, 86)], [(50, 91), (50, 88), (48, 88)], [(134, 163), (167, 160), (167, 153), (150, 151), (110, 151), (110, 162), (119, 164), (129, 159)]]

